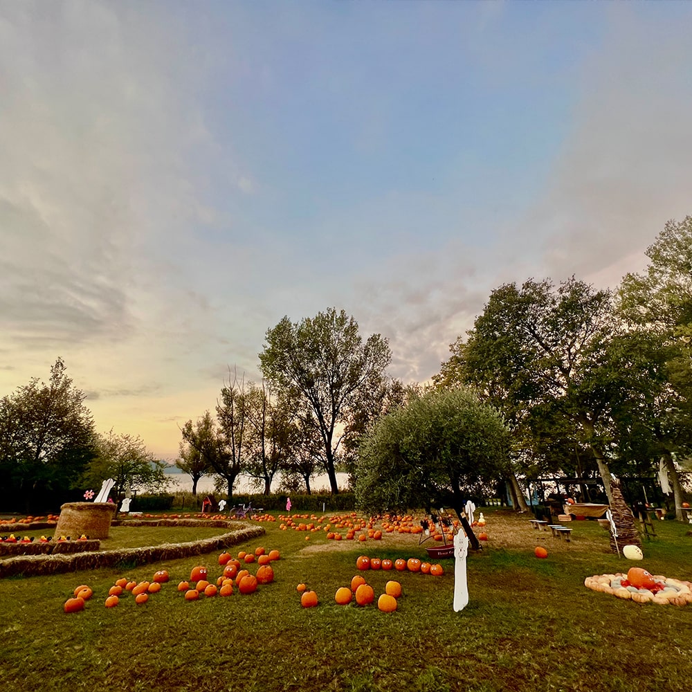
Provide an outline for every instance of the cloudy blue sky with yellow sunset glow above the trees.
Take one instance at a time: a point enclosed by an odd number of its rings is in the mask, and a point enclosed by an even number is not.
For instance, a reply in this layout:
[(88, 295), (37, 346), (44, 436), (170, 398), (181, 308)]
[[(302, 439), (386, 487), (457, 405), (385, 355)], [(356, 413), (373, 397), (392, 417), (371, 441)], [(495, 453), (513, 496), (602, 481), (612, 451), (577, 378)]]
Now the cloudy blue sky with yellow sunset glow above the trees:
[(329, 307), (426, 381), (493, 289), (692, 213), (692, 3), (0, 0), (0, 396), (165, 459)]

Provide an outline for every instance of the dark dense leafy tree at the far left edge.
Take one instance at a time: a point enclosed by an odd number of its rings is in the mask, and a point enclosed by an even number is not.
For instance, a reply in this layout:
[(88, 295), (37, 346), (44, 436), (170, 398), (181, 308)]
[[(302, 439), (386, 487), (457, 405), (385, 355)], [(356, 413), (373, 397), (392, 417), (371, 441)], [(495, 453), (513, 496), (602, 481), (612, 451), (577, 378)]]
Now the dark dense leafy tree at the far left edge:
[(46, 507), (78, 484), (95, 454), (85, 399), (62, 358), (51, 367), (48, 383), (33, 378), (0, 399), (0, 492), (6, 507)]

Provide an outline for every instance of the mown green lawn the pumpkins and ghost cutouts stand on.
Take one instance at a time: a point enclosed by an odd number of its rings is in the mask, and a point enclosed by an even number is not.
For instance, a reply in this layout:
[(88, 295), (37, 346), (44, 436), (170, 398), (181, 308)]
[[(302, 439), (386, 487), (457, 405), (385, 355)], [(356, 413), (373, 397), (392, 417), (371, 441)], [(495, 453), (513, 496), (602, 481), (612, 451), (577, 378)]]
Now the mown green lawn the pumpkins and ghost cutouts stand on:
[[(633, 563), (608, 553), (595, 522), (575, 522), (562, 543), (513, 515), (486, 513), (489, 544), (468, 558), (471, 600), (452, 609), (453, 560), (441, 577), (365, 572), (376, 596), (388, 579), (403, 587), (397, 612), (376, 606), (338, 606), (334, 593), (356, 574), (359, 554), (424, 556), (414, 536), (380, 542), (327, 541), (323, 532), (281, 531), (237, 546), (277, 548), (275, 583), (251, 596), (185, 602), (176, 583), (195, 564), (217, 576), (217, 554), (122, 570), (96, 570), (0, 581), (0, 689), (63, 691), (348, 691), (469, 690), (675, 691), (690, 687), (692, 606), (637, 605), (592, 592), (585, 576), (626, 571)], [(500, 527), (512, 540), (493, 540)], [(507, 529), (507, 527), (509, 527)], [(190, 540), (188, 529), (123, 529), (123, 547)], [(686, 525), (661, 522), (644, 545), (644, 565), (655, 574), (691, 579), (692, 538)], [(192, 529), (193, 531), (195, 529)], [(154, 532), (152, 534), (152, 531)], [(161, 531), (161, 533), (158, 533)], [(199, 529), (198, 537), (214, 529)], [(165, 536), (165, 538), (164, 538)], [(516, 538), (516, 540), (513, 540)], [(140, 543), (140, 540), (143, 541)], [(549, 547), (537, 560), (536, 542)], [(110, 546), (109, 546), (110, 547)], [(103, 601), (115, 579), (171, 583), (145, 605), (125, 597)], [(295, 585), (307, 583), (320, 605), (300, 607)], [(62, 604), (80, 583), (95, 596), (84, 612)]]

